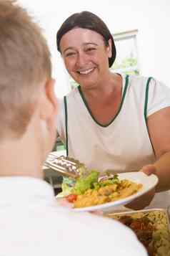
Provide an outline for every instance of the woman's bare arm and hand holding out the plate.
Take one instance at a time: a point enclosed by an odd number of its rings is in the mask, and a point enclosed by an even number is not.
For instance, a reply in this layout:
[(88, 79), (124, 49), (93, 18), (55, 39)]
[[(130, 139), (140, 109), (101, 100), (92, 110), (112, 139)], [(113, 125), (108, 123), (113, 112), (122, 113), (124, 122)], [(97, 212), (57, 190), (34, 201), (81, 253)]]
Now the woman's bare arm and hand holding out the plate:
[(147, 175), (156, 174), (159, 184), (156, 189), (151, 189), (144, 196), (126, 205), (136, 210), (147, 207), (154, 198), (155, 192), (170, 189), (170, 107), (150, 115), (147, 126), (157, 160), (153, 164), (144, 166), (141, 171)]

